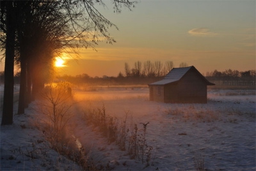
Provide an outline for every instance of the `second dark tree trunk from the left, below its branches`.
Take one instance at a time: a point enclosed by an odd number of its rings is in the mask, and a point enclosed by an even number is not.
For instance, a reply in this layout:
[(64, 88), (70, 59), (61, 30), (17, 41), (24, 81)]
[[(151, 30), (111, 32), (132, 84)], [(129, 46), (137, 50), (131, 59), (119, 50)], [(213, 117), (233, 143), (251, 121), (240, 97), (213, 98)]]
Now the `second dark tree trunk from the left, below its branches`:
[(20, 94), (18, 114), (24, 114), (26, 103), (27, 79), (26, 79), (26, 54), (20, 50)]

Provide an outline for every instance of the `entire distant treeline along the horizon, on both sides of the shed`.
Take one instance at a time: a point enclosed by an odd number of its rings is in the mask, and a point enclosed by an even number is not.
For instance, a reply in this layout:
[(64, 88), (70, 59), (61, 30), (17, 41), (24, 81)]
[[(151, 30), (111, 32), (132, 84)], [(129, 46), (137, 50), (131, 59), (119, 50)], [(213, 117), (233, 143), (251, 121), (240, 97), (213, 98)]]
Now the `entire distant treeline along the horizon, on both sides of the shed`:
[[(147, 85), (164, 78), (164, 76), (173, 68), (172, 61), (137, 61), (131, 68), (129, 64), (124, 64), (124, 73), (120, 71), (116, 77), (90, 77), (88, 74), (70, 76), (63, 75), (57, 77), (56, 81), (68, 81), (72, 84), (86, 85)], [(187, 63), (180, 63), (180, 67), (188, 66)], [(238, 70), (214, 70), (207, 72), (205, 78), (216, 85), (246, 85), (255, 86), (256, 70), (238, 71)], [(14, 77), (15, 84), (19, 84), (20, 73)], [(4, 82), (4, 72), (0, 72), (1, 84)]]

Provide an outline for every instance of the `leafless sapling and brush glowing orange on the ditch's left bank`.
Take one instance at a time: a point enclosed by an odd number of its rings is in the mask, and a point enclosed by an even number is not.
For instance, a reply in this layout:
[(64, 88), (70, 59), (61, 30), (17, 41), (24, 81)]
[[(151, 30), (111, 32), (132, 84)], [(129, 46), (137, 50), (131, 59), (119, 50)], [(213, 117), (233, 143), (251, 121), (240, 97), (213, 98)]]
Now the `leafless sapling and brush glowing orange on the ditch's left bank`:
[(34, 108), (40, 115), (41, 122), (34, 122), (34, 126), (44, 132), (50, 147), (59, 154), (75, 161), (84, 170), (97, 170), (90, 159), (90, 154), (86, 156), (83, 146), (77, 149), (74, 137), (68, 133), (68, 124), (73, 116), (69, 110), (76, 103), (72, 100), (70, 84), (67, 82), (50, 84), (45, 87), (41, 95), (42, 100), (38, 101)]

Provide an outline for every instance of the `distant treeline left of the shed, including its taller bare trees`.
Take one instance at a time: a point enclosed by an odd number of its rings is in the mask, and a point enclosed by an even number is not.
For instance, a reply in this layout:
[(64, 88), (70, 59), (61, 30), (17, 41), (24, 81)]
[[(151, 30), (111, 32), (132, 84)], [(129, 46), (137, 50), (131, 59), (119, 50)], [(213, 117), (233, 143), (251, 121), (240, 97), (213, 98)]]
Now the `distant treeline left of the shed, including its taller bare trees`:
[[(180, 67), (188, 66), (187, 63), (180, 63)], [(108, 77), (103, 75), (100, 77), (90, 77), (86, 73), (76, 75), (75, 77), (63, 75), (58, 77), (59, 80), (67, 80), (74, 84), (86, 83), (88, 85), (147, 85), (152, 82), (163, 79), (163, 77), (174, 67), (173, 61), (136, 61), (134, 66), (124, 64), (124, 73), (120, 71), (117, 77)]]

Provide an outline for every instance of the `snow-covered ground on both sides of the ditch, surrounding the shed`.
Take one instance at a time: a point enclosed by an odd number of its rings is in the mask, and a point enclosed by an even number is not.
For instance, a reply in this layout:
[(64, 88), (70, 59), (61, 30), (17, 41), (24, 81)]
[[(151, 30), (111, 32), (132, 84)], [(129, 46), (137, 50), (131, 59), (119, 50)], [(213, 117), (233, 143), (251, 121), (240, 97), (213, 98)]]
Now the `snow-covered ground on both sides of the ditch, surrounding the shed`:
[[(72, 111), (73, 134), (98, 165), (112, 170), (195, 170), (204, 161), (207, 170), (255, 170), (255, 93), (211, 90), (207, 104), (168, 104), (148, 101), (148, 89), (73, 90), (80, 101)], [(106, 108), (106, 114), (147, 126), (152, 159), (146, 166), (109, 144), (83, 111)], [(17, 107), (17, 104), (15, 104)], [(1, 126), (1, 170), (79, 170), (72, 161), (48, 148), (44, 133), (29, 126), (35, 111), (14, 115), (12, 126)], [(129, 135), (129, 133), (128, 133)], [(35, 157), (31, 157), (31, 155)], [(30, 156), (29, 156), (30, 155)]]

